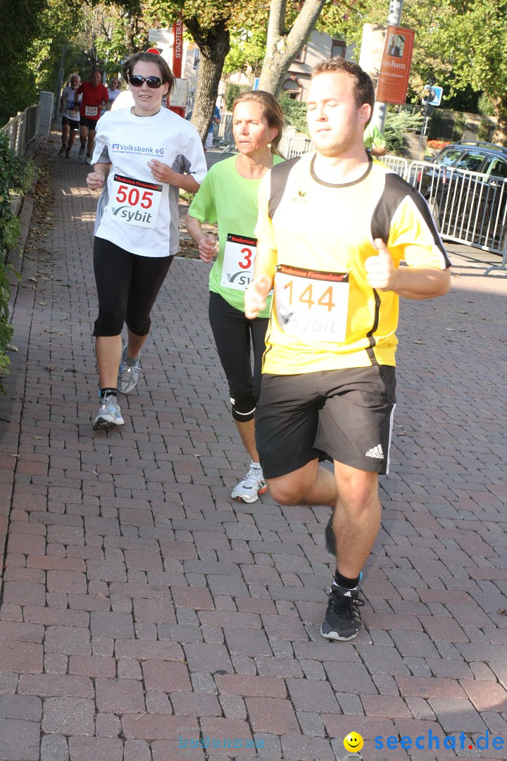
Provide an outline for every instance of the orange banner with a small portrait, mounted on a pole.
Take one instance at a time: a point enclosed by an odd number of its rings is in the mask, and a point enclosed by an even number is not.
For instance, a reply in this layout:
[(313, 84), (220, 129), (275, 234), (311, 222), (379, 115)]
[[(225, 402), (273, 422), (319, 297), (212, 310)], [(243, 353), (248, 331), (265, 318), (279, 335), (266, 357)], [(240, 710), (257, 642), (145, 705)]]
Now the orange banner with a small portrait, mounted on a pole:
[(413, 29), (388, 26), (380, 65), (376, 100), (381, 103), (405, 103), (414, 49)]

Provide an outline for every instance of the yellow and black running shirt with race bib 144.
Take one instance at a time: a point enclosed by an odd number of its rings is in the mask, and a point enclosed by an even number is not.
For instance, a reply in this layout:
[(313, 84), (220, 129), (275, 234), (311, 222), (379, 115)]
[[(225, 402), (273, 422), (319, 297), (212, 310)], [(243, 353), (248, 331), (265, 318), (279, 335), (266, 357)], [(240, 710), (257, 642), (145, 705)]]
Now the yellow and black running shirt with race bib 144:
[(377, 291), (364, 263), (381, 237), (398, 267), (450, 266), (420, 193), (378, 161), (331, 185), (315, 154), (273, 167), (261, 181), (255, 234), (277, 251), (264, 373), (293, 375), (395, 365), (398, 295)]

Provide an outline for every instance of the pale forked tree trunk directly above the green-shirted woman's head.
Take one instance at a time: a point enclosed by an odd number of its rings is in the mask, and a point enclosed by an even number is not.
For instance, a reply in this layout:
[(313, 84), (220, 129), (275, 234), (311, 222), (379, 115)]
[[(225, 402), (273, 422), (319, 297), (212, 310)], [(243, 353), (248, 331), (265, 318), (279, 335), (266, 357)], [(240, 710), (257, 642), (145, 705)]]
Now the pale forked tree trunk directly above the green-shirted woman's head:
[(284, 32), (285, 0), (271, 0), (266, 56), (262, 65), (259, 90), (278, 95), (287, 76), (287, 70), (303, 47), (324, 8), (326, 0), (305, 0), (292, 29)]

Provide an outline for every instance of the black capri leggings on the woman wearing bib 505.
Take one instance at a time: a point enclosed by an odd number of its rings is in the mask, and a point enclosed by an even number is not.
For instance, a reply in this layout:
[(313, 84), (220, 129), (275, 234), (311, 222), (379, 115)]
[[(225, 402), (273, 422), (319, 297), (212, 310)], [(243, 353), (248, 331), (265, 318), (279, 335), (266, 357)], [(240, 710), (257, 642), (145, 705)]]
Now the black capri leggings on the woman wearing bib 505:
[(138, 256), (96, 237), (93, 272), (99, 316), (93, 336), (119, 336), (123, 323), (135, 336), (146, 336), (151, 308), (172, 261), (173, 256)]

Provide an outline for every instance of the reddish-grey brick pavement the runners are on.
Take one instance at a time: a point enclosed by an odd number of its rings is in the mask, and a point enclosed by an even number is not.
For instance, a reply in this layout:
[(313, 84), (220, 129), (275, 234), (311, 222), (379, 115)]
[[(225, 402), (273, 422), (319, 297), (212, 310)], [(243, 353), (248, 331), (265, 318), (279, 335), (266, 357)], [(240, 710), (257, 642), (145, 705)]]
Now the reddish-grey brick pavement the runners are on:
[(0, 759), (505, 759), (507, 280), (455, 257), (447, 298), (402, 304), (366, 629), (325, 642), (328, 510), (230, 499), (201, 262), (170, 270), (125, 426), (92, 432), (97, 196), (57, 150), (0, 398)]

